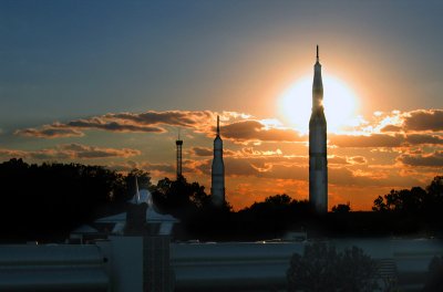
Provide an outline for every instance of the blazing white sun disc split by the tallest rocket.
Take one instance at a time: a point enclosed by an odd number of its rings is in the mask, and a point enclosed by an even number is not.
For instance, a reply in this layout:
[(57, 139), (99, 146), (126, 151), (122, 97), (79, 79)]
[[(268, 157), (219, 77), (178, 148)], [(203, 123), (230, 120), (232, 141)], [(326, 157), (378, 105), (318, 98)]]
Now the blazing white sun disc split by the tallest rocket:
[[(341, 80), (322, 76), (324, 115), (328, 132), (337, 133), (352, 125), (356, 118), (358, 98)], [(308, 133), (312, 107), (312, 76), (297, 80), (278, 98), (278, 112), (286, 124), (301, 133)]]

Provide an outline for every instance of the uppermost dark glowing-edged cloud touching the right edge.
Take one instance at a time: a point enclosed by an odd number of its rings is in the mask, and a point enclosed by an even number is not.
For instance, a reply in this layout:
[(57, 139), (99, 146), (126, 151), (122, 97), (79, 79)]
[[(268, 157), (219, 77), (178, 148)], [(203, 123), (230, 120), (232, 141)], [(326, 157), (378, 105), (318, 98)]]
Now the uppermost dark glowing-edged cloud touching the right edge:
[(406, 131), (443, 132), (443, 109), (419, 109), (404, 115)]

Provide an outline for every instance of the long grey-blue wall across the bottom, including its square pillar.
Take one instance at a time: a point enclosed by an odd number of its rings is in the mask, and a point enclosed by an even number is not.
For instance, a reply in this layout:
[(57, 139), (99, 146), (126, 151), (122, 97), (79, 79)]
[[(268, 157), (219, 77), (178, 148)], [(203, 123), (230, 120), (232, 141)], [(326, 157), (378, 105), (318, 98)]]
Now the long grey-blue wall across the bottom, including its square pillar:
[[(392, 267), (401, 291), (420, 291), (443, 240), (330, 239)], [(0, 291), (279, 291), (306, 242), (173, 243), (110, 237), (96, 244), (0, 246)], [(154, 269), (155, 268), (155, 269)]]

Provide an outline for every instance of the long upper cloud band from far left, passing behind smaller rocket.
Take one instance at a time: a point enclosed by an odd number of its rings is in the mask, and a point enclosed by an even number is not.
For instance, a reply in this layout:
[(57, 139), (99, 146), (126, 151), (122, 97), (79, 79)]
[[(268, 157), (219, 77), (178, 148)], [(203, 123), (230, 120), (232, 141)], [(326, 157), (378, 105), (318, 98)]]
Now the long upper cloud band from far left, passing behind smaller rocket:
[[(185, 127), (194, 133), (213, 137), (216, 113), (210, 111), (147, 111), (144, 113), (109, 113), (101, 116), (54, 122), (41, 127), (16, 131), (16, 135), (39, 138), (83, 136), (85, 131), (100, 129), (114, 133), (165, 133), (167, 127)], [(251, 119), (236, 112), (220, 114), (222, 137), (235, 143), (249, 142), (306, 142), (306, 136), (293, 129), (281, 127), (270, 119)], [(196, 149), (202, 155), (202, 149)]]

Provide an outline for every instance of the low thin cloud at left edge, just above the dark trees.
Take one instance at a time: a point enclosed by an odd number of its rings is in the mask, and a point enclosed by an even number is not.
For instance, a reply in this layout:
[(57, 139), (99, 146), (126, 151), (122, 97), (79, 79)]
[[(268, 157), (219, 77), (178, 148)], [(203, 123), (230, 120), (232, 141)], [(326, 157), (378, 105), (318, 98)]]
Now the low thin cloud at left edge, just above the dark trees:
[(0, 149), (0, 156), (3, 157), (21, 157), (31, 159), (94, 159), (110, 157), (127, 158), (140, 154), (141, 152), (136, 149), (101, 148), (81, 144), (64, 144), (55, 146), (54, 148), (41, 150)]

